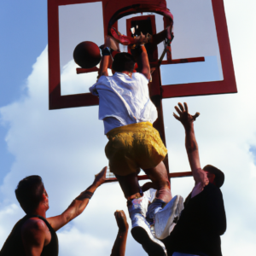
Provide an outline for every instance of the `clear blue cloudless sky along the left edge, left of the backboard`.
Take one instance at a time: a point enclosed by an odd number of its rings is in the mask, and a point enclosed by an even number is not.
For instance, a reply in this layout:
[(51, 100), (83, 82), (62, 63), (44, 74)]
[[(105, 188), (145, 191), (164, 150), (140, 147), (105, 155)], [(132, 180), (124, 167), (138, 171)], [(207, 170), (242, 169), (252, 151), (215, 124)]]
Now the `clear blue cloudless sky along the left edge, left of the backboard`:
[[(1, 1), (0, 20), (0, 106), (4, 106), (26, 93), (27, 75), (48, 43), (47, 1)], [(14, 161), (4, 143), (6, 128), (0, 126), (1, 180)]]

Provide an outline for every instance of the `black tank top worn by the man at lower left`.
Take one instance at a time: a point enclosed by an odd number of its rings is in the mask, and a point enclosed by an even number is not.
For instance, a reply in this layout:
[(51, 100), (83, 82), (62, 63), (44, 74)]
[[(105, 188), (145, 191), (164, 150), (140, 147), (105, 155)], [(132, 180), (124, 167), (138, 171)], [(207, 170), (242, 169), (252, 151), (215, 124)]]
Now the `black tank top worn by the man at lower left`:
[(11, 233), (9, 234), (8, 238), (3, 244), (2, 250), (0, 251), (0, 256), (26, 256), (25, 249), (22, 243), (21, 238), (21, 228), (22, 225), (26, 222), (29, 218), (40, 218), (44, 221), (47, 225), (51, 239), (47, 246), (43, 248), (41, 256), (57, 256), (59, 253), (59, 244), (58, 244), (58, 237), (56, 235), (55, 230), (51, 227), (49, 222), (39, 215), (26, 215), (24, 218), (21, 218), (16, 224)]

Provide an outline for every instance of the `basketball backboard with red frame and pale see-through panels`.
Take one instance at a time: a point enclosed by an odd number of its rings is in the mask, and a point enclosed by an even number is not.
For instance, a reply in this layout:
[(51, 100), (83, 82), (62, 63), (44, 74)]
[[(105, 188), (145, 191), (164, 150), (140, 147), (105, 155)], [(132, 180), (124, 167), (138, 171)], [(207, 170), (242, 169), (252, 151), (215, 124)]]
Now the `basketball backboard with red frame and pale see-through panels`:
[[(98, 104), (89, 93), (97, 73), (77, 74), (73, 49), (82, 41), (103, 44), (111, 17), (132, 4), (154, 9), (121, 17), (114, 26), (123, 34), (129, 32), (130, 21), (143, 15), (154, 15), (156, 32), (162, 31), (158, 8), (173, 15), (172, 56), (160, 66), (162, 98), (236, 92), (223, 0), (49, 0), (49, 109)], [(123, 45), (120, 49), (127, 51)], [(162, 50), (159, 44), (159, 56)]]

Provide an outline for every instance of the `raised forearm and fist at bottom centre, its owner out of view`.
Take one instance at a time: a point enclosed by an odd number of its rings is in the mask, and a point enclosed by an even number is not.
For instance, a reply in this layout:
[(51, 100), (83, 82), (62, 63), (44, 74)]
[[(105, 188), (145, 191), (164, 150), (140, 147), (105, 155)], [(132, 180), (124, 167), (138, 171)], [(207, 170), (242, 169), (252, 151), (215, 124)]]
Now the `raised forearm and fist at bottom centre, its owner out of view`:
[(116, 223), (119, 227), (118, 235), (113, 244), (112, 253), (110, 256), (125, 256), (126, 240), (129, 230), (129, 225), (126, 220), (124, 211), (114, 212)]

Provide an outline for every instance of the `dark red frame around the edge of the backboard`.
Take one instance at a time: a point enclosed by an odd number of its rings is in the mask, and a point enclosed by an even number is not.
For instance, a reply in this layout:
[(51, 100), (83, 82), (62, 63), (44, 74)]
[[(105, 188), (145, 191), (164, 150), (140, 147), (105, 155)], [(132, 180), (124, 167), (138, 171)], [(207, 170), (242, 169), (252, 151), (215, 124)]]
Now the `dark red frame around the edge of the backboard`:
[[(76, 3), (102, 2), (104, 33), (108, 33), (108, 21), (119, 9), (128, 5), (142, 3), (166, 6), (165, 0), (48, 0), (48, 24), (49, 24), (49, 109), (76, 108), (94, 106), (99, 103), (96, 96), (90, 93), (61, 96), (61, 70), (59, 48), (59, 13), (58, 7)], [(162, 86), (162, 97), (200, 96), (223, 93), (235, 93), (236, 78), (233, 67), (230, 39), (226, 18), (224, 14), (223, 0), (212, 0), (213, 15), (218, 36), (218, 45), (223, 67), (223, 81), (202, 82), (191, 84), (172, 84)], [(172, 10), (171, 10), (172, 12)], [(175, 17), (174, 17), (175, 19)], [(175, 22), (175, 20), (174, 20)]]

